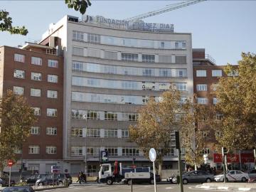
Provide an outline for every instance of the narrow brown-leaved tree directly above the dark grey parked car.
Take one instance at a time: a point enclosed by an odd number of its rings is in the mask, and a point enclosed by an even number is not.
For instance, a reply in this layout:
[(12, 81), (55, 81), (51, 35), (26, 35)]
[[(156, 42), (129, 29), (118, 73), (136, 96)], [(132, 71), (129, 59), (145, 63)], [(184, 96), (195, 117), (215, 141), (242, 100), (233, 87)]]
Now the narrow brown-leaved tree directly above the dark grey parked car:
[(184, 104), (181, 118), (182, 146), (186, 151), (186, 164), (195, 166), (203, 164), (203, 149), (213, 130), (215, 110), (210, 105), (200, 105), (189, 100)]

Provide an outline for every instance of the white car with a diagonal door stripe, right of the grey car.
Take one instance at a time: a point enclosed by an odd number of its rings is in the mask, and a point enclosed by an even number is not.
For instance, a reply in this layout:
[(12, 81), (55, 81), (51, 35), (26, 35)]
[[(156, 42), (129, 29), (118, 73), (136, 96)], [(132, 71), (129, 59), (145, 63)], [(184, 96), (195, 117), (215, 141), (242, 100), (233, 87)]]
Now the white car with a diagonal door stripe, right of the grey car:
[[(214, 176), (215, 181), (224, 181), (224, 173)], [(242, 181), (246, 182), (249, 175), (238, 170), (226, 171), (226, 181)]]

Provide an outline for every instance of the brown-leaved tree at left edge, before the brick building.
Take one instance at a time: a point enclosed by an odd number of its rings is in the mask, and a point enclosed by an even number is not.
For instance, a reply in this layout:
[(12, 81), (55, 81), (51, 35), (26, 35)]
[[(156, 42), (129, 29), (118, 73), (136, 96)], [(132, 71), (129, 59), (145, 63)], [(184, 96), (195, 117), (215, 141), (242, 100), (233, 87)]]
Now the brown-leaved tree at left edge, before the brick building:
[(15, 149), (21, 149), (36, 122), (33, 110), (21, 95), (8, 90), (0, 101), (0, 174), (7, 159), (15, 159)]

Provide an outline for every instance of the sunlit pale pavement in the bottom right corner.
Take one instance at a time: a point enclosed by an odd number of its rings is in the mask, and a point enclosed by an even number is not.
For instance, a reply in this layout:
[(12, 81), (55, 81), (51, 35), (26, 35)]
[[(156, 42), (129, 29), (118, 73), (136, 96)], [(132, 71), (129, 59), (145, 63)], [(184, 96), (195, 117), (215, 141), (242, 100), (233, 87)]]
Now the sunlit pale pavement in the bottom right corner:
[(203, 183), (196, 188), (227, 191), (254, 191), (256, 192), (256, 183)]

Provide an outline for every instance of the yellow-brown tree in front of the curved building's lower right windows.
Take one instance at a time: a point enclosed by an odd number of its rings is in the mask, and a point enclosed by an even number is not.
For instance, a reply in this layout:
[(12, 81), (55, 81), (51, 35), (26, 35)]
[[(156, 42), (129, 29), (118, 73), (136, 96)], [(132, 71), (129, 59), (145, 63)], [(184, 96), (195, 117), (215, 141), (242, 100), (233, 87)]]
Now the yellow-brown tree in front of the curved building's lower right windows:
[(177, 90), (164, 92), (159, 102), (150, 98), (149, 102), (139, 110), (139, 122), (129, 127), (129, 136), (147, 159), (149, 149), (156, 149), (161, 174), (163, 157), (170, 152), (171, 133), (178, 127), (178, 114), (181, 111), (181, 95)]

